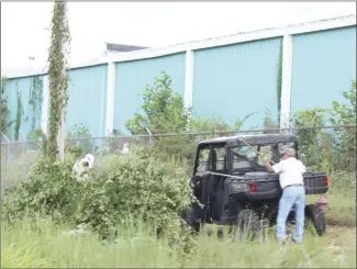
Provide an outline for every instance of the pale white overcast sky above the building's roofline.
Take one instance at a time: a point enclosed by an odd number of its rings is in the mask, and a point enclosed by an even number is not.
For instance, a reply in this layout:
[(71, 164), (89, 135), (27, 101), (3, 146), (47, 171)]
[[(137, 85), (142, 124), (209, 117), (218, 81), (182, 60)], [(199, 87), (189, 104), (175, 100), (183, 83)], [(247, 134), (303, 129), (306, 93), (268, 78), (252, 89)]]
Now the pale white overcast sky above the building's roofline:
[[(1, 68), (46, 63), (52, 2), (1, 2)], [(356, 14), (356, 2), (70, 2), (72, 61), (100, 56), (104, 42), (166, 46), (204, 37)]]

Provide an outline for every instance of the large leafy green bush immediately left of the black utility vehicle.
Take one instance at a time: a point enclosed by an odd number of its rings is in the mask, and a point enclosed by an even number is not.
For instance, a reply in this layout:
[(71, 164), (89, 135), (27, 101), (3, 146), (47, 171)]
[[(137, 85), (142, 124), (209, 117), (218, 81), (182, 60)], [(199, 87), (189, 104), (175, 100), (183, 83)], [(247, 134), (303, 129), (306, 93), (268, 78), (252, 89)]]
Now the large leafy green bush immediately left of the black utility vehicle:
[(118, 222), (143, 220), (166, 231), (177, 225), (190, 189), (183, 168), (153, 157), (146, 149), (118, 158), (112, 170), (94, 183), (87, 197), (81, 221), (108, 235)]

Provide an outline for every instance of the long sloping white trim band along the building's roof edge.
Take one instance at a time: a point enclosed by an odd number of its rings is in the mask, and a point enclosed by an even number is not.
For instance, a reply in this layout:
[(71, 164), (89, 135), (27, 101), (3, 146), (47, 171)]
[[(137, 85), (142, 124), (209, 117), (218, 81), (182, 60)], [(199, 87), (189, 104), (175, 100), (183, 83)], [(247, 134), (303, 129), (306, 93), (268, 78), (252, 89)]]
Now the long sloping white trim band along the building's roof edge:
[[(194, 41), (194, 42), (177, 44), (177, 45), (160, 47), (160, 48), (141, 49), (141, 51), (130, 52), (121, 55), (108, 55), (107, 57), (99, 58), (94, 61), (91, 61), (90, 64), (85, 63), (79, 65), (71, 65), (70, 68), (96, 66), (96, 65), (108, 64), (111, 61), (119, 63), (119, 61), (129, 61), (135, 59), (154, 58), (154, 57), (160, 57), (160, 56), (176, 54), (176, 53), (183, 53), (187, 51), (196, 51), (196, 49), (224, 46), (224, 45), (237, 44), (237, 43), (249, 42), (249, 41), (272, 38), (272, 37), (279, 37), (285, 35), (303, 34), (303, 33), (346, 27), (353, 25), (356, 25), (356, 15), (347, 15), (347, 16), (333, 18), (333, 19), (314, 21), (309, 23), (293, 24), (293, 25), (288, 25), (282, 27), (258, 30), (258, 31), (226, 35), (221, 37), (207, 38), (202, 41)], [(14, 78), (14, 77), (35, 76), (42, 74), (46, 74), (46, 71), (43, 70), (43, 68), (42, 70), (32, 70), (27, 72), (7, 74), (7, 76), (9, 78)]]

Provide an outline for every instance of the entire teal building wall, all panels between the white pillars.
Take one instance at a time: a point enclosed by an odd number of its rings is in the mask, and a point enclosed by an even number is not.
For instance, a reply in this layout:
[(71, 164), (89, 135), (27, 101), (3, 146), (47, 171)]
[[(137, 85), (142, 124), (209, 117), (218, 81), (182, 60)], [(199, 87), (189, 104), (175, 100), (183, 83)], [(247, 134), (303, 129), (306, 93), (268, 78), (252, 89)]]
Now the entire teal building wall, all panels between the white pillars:
[[(292, 37), (292, 113), (306, 108), (330, 108), (342, 101), (342, 91), (356, 79), (356, 26), (300, 34)], [(243, 128), (261, 126), (265, 111), (277, 119), (277, 80), (281, 38), (199, 49), (194, 52), (193, 116), (236, 117), (258, 112)], [(145, 86), (166, 71), (172, 89), (185, 96), (186, 54), (116, 63), (114, 128), (125, 132), (125, 122), (141, 111)], [(87, 124), (93, 136), (105, 135), (108, 65), (69, 71), (66, 128)], [(9, 121), (15, 121), (18, 93), (22, 104), (19, 139), (26, 139), (41, 125), (40, 111), (30, 104), (33, 85), (43, 91), (43, 76), (9, 79)], [(40, 112), (40, 113), (38, 113)], [(35, 114), (35, 115), (34, 115)], [(15, 138), (15, 123), (10, 128)]]

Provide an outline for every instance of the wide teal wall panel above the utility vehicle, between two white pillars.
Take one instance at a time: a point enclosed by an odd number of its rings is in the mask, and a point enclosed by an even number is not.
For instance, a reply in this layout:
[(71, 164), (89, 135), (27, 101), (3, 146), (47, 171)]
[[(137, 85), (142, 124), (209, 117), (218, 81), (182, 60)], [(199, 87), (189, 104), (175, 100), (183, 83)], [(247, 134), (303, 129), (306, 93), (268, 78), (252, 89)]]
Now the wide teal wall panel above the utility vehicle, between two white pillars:
[(200, 49), (194, 53), (193, 115), (263, 125), (267, 109), (277, 119), (277, 72), (281, 38)]

